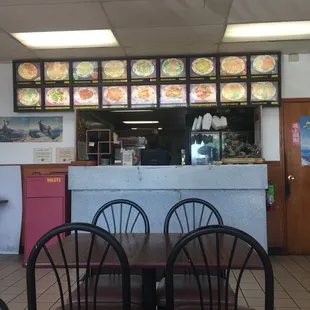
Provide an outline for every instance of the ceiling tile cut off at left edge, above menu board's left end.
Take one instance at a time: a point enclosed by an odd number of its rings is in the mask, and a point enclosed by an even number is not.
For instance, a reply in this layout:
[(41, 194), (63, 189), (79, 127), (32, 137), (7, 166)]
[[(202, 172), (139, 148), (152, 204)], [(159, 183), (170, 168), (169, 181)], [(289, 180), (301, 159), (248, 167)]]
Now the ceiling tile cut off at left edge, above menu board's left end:
[(29, 59), (36, 56), (5, 33), (0, 33), (0, 60)]

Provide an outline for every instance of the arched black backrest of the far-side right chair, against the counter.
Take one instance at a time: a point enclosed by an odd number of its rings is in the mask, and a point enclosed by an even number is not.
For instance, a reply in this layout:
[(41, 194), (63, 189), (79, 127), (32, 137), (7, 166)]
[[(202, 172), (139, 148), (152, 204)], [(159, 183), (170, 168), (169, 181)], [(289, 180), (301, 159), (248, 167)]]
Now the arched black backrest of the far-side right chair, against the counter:
[(176, 203), (168, 212), (164, 232), (188, 233), (207, 225), (223, 225), (218, 210), (209, 202), (188, 198)]

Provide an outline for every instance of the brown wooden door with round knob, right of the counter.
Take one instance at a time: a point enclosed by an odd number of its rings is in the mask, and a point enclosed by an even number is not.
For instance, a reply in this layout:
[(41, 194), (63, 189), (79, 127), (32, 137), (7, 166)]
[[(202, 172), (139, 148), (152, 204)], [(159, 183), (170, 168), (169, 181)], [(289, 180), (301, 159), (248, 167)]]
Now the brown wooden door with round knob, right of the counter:
[(310, 119), (310, 99), (283, 104), (287, 252), (309, 255), (310, 166), (302, 165), (301, 146), (298, 140), (298, 133), (302, 128), (297, 128), (302, 116), (309, 116)]

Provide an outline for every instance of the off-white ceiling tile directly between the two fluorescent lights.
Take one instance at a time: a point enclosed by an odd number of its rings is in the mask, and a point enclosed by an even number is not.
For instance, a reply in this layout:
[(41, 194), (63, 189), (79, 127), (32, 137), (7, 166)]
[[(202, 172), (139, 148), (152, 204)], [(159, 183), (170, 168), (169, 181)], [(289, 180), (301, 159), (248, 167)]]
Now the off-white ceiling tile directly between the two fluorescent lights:
[(119, 43), (125, 47), (212, 44), (221, 41), (223, 32), (222, 25), (116, 29)]

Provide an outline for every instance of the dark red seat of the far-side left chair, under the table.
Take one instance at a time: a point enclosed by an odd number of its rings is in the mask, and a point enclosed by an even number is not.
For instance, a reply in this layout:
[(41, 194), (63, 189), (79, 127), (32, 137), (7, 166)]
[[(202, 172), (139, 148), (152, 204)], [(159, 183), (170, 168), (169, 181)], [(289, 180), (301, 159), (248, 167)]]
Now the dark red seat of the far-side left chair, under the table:
[[(94, 302), (96, 276), (88, 279), (88, 302)], [(80, 285), (80, 301), (85, 301), (86, 279)], [(130, 276), (131, 303), (142, 304), (142, 278)], [(72, 292), (73, 302), (77, 302), (77, 289)], [(122, 297), (122, 275), (100, 275), (97, 286), (97, 303), (121, 303)]]

